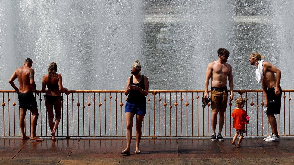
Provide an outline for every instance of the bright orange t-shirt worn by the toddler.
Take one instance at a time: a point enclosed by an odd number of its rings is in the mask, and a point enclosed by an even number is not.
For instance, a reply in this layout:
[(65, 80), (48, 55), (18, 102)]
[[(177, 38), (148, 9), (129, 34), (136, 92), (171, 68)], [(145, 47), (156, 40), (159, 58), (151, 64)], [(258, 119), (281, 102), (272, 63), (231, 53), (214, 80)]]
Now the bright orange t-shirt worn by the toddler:
[(245, 122), (247, 119), (247, 112), (243, 109), (234, 109), (232, 113), (232, 117), (234, 119), (233, 121), (233, 127), (238, 130), (245, 129)]

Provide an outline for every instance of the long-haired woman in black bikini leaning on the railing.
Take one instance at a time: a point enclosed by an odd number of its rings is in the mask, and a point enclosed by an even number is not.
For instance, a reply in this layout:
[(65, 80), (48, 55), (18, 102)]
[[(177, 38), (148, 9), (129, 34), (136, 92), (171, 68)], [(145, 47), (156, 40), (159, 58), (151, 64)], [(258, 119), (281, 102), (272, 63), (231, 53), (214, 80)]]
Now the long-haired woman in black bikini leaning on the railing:
[[(45, 92), (46, 86), (48, 90), (46, 91), (45, 106), (47, 108), (49, 127), (51, 130), (52, 140), (55, 139), (55, 132), (58, 127), (61, 118), (61, 93), (67, 93), (67, 88), (62, 87), (62, 77), (57, 72), (56, 63), (50, 63), (48, 68), (48, 74), (43, 76), (43, 87), (42, 92)], [(53, 108), (55, 110), (55, 122), (53, 123)]]

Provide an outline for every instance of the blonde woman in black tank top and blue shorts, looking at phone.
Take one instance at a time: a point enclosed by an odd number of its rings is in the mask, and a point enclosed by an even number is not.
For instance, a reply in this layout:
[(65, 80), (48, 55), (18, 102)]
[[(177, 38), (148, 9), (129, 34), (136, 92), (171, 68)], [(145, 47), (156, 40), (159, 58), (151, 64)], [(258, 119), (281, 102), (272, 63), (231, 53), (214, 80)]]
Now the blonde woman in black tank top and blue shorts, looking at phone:
[(148, 78), (141, 75), (141, 65), (139, 60), (131, 67), (131, 74), (127, 80), (125, 95), (128, 95), (125, 105), (125, 120), (127, 125), (127, 147), (122, 154), (130, 154), (130, 144), (132, 140), (133, 118), (136, 115), (136, 151), (135, 154), (141, 153), (139, 144), (142, 135), (142, 122), (146, 114), (146, 97), (148, 95), (149, 82)]

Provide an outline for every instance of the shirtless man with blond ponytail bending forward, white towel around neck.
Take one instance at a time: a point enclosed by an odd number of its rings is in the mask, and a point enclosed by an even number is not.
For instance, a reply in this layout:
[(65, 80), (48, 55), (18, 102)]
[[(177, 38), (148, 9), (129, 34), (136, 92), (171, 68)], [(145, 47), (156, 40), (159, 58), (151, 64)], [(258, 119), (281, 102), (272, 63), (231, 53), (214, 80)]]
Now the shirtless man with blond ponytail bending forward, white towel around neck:
[[(280, 114), (282, 88), (280, 86), (281, 71), (273, 64), (261, 60), (258, 52), (250, 54), (249, 61), (251, 65), (257, 67), (256, 80), (262, 83), (262, 90), (265, 98), (264, 111), (267, 114), (268, 122), (271, 125), (272, 133), (270, 136), (264, 138), (265, 142), (280, 141), (280, 136), (277, 130), (277, 121), (274, 114)], [(276, 73), (276, 76), (275, 76)]]

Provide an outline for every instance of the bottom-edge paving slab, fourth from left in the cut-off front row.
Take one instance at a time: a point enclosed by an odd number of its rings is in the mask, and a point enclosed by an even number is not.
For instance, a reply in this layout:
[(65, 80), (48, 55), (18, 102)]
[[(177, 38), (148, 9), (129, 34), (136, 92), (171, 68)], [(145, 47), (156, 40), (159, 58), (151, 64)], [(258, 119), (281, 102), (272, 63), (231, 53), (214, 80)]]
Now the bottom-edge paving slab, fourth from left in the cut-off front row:
[(181, 158), (181, 165), (189, 164), (230, 164), (227, 158)]

